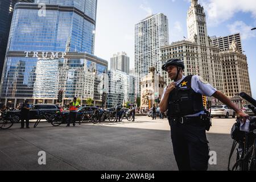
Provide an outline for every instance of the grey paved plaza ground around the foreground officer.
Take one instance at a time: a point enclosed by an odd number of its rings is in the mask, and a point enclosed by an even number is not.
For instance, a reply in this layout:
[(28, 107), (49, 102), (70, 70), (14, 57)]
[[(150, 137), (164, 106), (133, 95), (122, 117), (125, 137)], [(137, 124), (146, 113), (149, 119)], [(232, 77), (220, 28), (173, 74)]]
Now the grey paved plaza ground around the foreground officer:
[[(207, 137), (217, 165), (226, 170), (235, 119), (214, 118)], [(0, 130), (0, 170), (117, 170), (176, 171), (167, 119), (136, 117), (135, 122), (83, 123), (76, 127), (52, 127), (39, 123), (20, 130), (16, 123)], [(38, 152), (46, 152), (46, 165), (39, 165)]]

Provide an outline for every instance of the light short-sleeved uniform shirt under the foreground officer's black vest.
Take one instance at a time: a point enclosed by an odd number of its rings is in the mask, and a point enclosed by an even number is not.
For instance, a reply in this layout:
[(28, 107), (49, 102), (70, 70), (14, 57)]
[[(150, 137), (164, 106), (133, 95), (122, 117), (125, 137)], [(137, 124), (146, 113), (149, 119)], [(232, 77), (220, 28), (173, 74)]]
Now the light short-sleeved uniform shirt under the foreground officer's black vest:
[[(185, 76), (176, 81), (176, 85), (179, 85), (181, 81), (183, 81)], [(212, 97), (213, 94), (217, 91), (215, 88), (213, 88), (212, 85), (210, 85), (207, 81), (204, 80), (203, 77), (194, 75), (191, 79), (191, 88), (196, 92), (200, 93), (203, 96)], [(164, 89), (162, 100), (164, 99), (164, 95), (166, 93), (167, 88)], [(200, 114), (204, 114), (204, 111), (201, 111), (200, 113), (193, 114), (193, 115), (187, 115), (187, 117), (197, 117)]]

